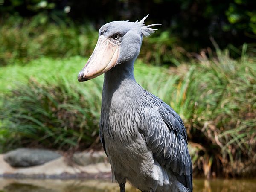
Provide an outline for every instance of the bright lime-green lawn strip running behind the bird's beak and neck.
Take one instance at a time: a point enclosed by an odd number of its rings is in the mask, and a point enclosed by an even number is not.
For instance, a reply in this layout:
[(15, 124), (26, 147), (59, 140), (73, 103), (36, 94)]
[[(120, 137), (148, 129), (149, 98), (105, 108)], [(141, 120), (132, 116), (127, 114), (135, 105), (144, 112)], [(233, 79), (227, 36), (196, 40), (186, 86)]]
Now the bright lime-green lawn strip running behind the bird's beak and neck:
[[(19, 86), (20, 83), (27, 82), (32, 78), (39, 83), (44, 81), (55, 81), (57, 79), (66, 79), (70, 83), (79, 84), (77, 75), (84, 67), (88, 58), (80, 56), (73, 56), (69, 58), (50, 58), (42, 57), (26, 64), (16, 61), (15, 65), (7, 65), (1, 67), (0, 70), (0, 92), (9, 91), (11, 88)], [(167, 73), (167, 69), (163, 67), (154, 67), (146, 65), (142, 61), (137, 60), (135, 75), (140, 76), (156, 76), (161, 73)], [(100, 76), (98, 79), (103, 79)], [(90, 82), (90, 81), (89, 81)], [(87, 84), (87, 83), (84, 83)], [(79, 84), (83, 86), (84, 84)]]

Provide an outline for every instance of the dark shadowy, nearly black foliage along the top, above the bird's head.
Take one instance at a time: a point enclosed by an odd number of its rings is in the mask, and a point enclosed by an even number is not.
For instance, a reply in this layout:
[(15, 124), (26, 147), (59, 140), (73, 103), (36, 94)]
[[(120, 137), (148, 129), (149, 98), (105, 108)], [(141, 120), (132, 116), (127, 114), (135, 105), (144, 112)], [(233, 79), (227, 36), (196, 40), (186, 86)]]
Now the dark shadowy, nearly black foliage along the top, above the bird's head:
[(255, 7), (252, 0), (0, 0), (2, 20), (10, 15), (55, 15), (67, 24), (71, 19), (96, 29), (113, 20), (135, 21), (149, 14), (147, 23), (162, 23), (160, 29), (178, 35), (180, 46), (189, 52), (211, 46), (210, 36), (221, 48), (254, 42)]

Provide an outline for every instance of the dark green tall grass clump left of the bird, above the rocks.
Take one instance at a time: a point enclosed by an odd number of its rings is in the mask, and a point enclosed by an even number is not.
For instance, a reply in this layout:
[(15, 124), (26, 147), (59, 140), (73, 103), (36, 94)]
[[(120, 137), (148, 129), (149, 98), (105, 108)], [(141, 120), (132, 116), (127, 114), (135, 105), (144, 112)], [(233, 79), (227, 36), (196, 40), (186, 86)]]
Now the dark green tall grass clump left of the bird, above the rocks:
[(100, 79), (86, 89), (67, 79), (40, 84), (30, 79), (6, 96), (1, 128), (10, 134), (6, 143), (47, 148), (88, 148), (98, 137)]

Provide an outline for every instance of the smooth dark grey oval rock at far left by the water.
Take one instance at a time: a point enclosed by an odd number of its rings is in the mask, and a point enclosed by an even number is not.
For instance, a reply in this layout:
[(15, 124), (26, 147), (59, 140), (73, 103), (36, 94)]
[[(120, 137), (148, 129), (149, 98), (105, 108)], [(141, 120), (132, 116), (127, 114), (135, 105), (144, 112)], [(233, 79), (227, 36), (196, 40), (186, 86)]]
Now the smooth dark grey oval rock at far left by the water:
[(4, 160), (13, 167), (41, 165), (61, 157), (60, 154), (46, 149), (18, 148), (4, 155)]

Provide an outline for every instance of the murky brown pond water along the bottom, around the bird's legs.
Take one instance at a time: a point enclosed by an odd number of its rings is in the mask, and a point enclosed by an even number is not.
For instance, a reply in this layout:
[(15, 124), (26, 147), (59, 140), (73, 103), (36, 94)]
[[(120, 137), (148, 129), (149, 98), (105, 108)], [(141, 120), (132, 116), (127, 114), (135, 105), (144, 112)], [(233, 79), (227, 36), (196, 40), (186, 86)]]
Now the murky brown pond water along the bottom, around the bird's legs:
[[(1, 179), (0, 192), (119, 192), (109, 180)], [(127, 185), (126, 192), (139, 192)], [(256, 179), (194, 179), (193, 192), (256, 192)]]

